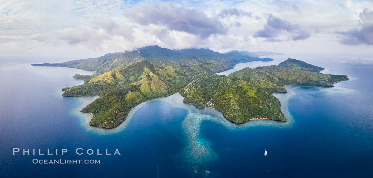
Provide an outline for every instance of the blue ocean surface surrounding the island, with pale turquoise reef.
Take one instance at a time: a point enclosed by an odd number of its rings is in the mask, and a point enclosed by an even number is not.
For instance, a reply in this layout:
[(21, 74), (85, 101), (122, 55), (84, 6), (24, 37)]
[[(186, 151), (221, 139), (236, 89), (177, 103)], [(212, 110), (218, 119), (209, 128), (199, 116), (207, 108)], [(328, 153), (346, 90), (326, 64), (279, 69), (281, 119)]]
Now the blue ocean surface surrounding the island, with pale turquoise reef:
[[(215, 109), (183, 103), (175, 93), (144, 102), (118, 127), (103, 129), (91, 127), (92, 116), (80, 112), (98, 96), (69, 98), (60, 90), (84, 83), (73, 74), (91, 72), (30, 65), (68, 59), (0, 57), (0, 177), (371, 177), (373, 56), (269, 57), (274, 61), (241, 63), (221, 74), (295, 58), (350, 80), (331, 88), (285, 86), (288, 93), (273, 95), (287, 122), (236, 125)], [(13, 147), (21, 151), (13, 155)], [(75, 154), (79, 147), (83, 155)], [(22, 149), (45, 155), (22, 155)], [(46, 155), (47, 149), (59, 149), (58, 155)], [(60, 155), (60, 149), (68, 152)], [(105, 155), (106, 149), (112, 155)], [(116, 149), (120, 155), (113, 155)], [(33, 159), (99, 159), (100, 164), (34, 164)]]

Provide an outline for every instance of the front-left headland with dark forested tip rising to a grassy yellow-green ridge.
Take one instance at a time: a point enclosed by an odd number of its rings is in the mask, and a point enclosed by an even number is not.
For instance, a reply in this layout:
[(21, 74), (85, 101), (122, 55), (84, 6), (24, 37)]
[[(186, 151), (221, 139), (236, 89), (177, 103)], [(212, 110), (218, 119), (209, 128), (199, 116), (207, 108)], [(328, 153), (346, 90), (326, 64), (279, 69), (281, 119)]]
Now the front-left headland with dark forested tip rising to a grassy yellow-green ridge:
[(136, 105), (151, 98), (168, 96), (176, 92), (152, 72), (144, 72), (147, 74), (138, 82), (110, 90), (83, 108), (83, 112), (93, 114), (90, 125), (116, 127), (126, 119), (128, 112)]

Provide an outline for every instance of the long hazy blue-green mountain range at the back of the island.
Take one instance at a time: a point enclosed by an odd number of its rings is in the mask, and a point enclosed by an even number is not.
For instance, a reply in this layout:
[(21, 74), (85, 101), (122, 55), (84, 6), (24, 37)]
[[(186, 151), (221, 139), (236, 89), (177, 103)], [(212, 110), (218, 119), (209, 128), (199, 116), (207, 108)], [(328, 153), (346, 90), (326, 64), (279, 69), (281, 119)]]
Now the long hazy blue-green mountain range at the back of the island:
[(83, 69), (88, 71), (107, 72), (126, 67), (137, 61), (147, 60), (156, 66), (167, 67), (173, 65), (194, 66), (203, 63), (221, 64), (231, 69), (237, 63), (250, 61), (272, 61), (271, 58), (257, 58), (240, 53), (220, 54), (209, 49), (169, 50), (159, 46), (147, 46), (132, 51), (109, 53), (97, 58), (72, 60), (58, 64), (32, 64), (33, 66), (61, 66)]

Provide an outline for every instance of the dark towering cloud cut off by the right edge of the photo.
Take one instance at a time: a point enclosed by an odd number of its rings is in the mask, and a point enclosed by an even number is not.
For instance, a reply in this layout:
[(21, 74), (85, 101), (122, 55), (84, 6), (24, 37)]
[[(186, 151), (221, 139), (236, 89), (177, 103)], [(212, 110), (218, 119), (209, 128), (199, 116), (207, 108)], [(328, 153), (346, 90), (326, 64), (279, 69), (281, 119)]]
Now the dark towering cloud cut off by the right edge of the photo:
[(360, 29), (337, 31), (336, 34), (343, 35), (339, 42), (344, 45), (373, 45), (373, 11), (366, 8), (360, 12), (358, 25)]

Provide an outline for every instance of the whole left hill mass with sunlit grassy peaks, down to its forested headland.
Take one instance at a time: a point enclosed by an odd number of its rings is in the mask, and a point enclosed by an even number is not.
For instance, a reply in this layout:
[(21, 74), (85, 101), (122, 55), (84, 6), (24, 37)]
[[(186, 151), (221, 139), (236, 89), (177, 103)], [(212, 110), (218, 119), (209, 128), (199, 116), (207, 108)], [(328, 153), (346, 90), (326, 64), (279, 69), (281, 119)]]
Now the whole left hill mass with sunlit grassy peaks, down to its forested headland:
[[(131, 108), (141, 102), (176, 92), (175, 87), (168, 86), (160, 79), (162, 77), (156, 74), (160, 70), (148, 61), (138, 61), (122, 69), (93, 76), (83, 85), (64, 88), (63, 96), (100, 95), (100, 98), (82, 111), (93, 114), (91, 125), (116, 127), (125, 120)], [(182, 85), (182, 83), (178, 84)]]

